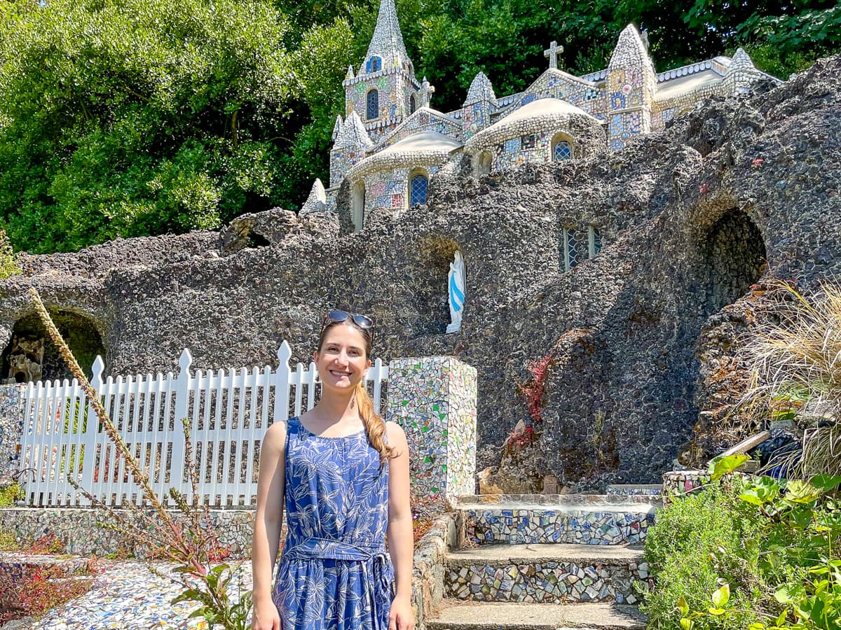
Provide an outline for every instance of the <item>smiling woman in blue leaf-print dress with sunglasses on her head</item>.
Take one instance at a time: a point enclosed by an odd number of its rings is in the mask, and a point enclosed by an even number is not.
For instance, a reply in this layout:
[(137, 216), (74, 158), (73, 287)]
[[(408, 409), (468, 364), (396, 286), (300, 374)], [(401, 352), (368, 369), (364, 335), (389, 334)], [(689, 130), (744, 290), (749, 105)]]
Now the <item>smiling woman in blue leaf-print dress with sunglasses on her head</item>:
[[(365, 390), (372, 341), (370, 318), (327, 313), (313, 354), (320, 401), (263, 439), (253, 630), (414, 627), (409, 447)], [(284, 503), (288, 532), (272, 591)]]

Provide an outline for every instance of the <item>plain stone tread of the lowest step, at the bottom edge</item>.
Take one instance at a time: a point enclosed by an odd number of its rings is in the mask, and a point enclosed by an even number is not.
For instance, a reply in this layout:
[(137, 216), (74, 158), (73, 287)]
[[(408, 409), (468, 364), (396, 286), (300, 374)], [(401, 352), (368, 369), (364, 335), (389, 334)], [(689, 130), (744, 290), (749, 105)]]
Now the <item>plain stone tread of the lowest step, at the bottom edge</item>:
[(427, 630), (643, 630), (637, 606), (621, 604), (489, 604), (444, 601)]

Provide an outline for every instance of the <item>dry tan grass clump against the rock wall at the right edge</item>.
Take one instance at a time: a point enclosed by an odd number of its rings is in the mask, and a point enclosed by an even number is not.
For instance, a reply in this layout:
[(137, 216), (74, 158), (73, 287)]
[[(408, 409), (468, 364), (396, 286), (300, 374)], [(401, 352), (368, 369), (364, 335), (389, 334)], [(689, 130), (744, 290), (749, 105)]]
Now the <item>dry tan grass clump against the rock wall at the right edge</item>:
[(806, 479), (841, 474), (841, 286), (824, 281), (808, 296), (782, 281), (774, 288), (776, 317), (745, 344), (752, 375), (737, 408), (758, 426), (794, 419), (804, 429), (802, 454), (769, 467), (787, 466), (788, 476)]

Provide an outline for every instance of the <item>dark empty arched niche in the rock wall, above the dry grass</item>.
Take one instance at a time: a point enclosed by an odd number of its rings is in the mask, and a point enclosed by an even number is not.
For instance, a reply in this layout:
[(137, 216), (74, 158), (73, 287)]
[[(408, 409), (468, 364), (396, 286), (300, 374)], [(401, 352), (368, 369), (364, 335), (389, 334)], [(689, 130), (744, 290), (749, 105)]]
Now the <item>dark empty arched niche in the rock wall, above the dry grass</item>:
[(767, 253), (759, 228), (747, 214), (729, 210), (706, 236), (707, 311), (718, 312), (759, 281)]

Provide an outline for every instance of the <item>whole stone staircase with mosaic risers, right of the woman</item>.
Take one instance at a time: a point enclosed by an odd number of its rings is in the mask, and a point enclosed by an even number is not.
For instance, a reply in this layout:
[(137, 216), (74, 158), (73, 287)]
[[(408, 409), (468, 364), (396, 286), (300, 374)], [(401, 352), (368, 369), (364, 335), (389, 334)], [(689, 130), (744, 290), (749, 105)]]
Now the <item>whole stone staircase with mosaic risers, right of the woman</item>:
[(427, 630), (645, 627), (635, 581), (658, 486), (608, 495), (482, 495), (458, 500), (443, 599)]

